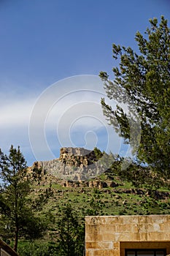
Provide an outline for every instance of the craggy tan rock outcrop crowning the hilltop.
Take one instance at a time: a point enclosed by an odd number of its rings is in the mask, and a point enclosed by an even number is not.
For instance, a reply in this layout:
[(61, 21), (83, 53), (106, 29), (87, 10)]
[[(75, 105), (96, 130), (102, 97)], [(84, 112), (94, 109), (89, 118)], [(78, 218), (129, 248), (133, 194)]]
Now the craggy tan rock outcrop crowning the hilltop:
[[(89, 181), (104, 173), (95, 151), (85, 148), (61, 148), (60, 157), (50, 161), (34, 162), (28, 167), (27, 176), (47, 183), (59, 183), (66, 187), (115, 187), (115, 184), (102, 184), (99, 181)], [(82, 184), (83, 183), (83, 184)]]

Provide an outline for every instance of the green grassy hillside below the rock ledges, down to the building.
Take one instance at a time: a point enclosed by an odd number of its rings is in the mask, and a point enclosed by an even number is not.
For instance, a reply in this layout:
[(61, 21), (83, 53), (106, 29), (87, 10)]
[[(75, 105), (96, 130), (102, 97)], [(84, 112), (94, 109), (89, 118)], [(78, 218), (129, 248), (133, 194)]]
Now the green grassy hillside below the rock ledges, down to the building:
[[(42, 204), (39, 208), (36, 206), (36, 214), (42, 219), (50, 219), (50, 224), (45, 236), (38, 241), (31, 244), (28, 244), (28, 241), (20, 242), (20, 255), (26, 255), (25, 252), (22, 254), (22, 249), (28, 246), (33, 247), (35, 255), (38, 255), (39, 249), (44, 252), (47, 250), (49, 253), (49, 248), (52, 250), (51, 255), (60, 255), (60, 250), (57, 249), (61, 230), (60, 219), (63, 218), (67, 206), (72, 207), (74, 217), (77, 218), (83, 232), (87, 215), (170, 214), (170, 192), (167, 182), (160, 188), (151, 187), (146, 183), (135, 187), (134, 182), (127, 181), (126, 178), (103, 173), (94, 179), (93, 183), (108, 184), (113, 181), (114, 187), (96, 188), (86, 187), (87, 182), (82, 184), (70, 182), (69, 187), (63, 187), (61, 184), (51, 184), (51, 182), (47, 184), (47, 177), (44, 179), (46, 184), (41, 182), (37, 184), (37, 181), (33, 184), (30, 196), (34, 198), (35, 204), (41, 198)], [(81, 242), (83, 250), (84, 237)]]

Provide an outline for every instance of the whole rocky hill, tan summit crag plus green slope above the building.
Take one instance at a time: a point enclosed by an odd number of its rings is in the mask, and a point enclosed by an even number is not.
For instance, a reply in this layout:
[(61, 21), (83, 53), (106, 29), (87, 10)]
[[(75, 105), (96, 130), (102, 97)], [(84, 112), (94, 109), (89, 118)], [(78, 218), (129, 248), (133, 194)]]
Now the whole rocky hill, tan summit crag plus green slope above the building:
[[(85, 148), (61, 148), (58, 159), (34, 162), (28, 167), (27, 176), (33, 181), (30, 197), (34, 200), (36, 214), (54, 219), (46, 234), (47, 241), (54, 241), (58, 236), (55, 222), (62, 218), (62, 211), (68, 204), (72, 205), (80, 222), (87, 215), (170, 213), (167, 187), (155, 189), (146, 183), (136, 186), (115, 171), (102, 169), (101, 173), (100, 167), (104, 165), (98, 161), (96, 151)], [(92, 170), (101, 175), (88, 179), (89, 173), (93, 177)]]

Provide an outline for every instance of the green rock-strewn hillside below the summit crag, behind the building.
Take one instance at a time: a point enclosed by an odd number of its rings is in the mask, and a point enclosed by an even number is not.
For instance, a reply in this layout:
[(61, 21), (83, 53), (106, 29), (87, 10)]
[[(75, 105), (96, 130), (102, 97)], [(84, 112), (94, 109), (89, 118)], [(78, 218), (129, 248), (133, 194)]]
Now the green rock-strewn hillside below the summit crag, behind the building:
[[(123, 171), (121, 161), (117, 159), (109, 170), (88, 181), (63, 181), (47, 172), (44, 174), (41, 167), (34, 169), (30, 197), (34, 199), (37, 217), (47, 221), (44, 236), (29, 244), (35, 255), (38, 255), (39, 246), (47, 250), (45, 255), (65, 255), (61, 232), (70, 233), (72, 223), (69, 223), (71, 227), (62, 230), (63, 219), (64, 224), (66, 220), (70, 222), (70, 217), (77, 220), (77, 227), (72, 228), (76, 233), (80, 232), (74, 242), (80, 246), (77, 255), (82, 255), (87, 215), (170, 214), (169, 181), (135, 164)], [(69, 212), (66, 214), (66, 211)], [(72, 232), (71, 236), (74, 236)], [(26, 255), (25, 252), (22, 254), (22, 249), (28, 247), (27, 243), (20, 242), (20, 255)], [(66, 246), (66, 238), (62, 243)]]

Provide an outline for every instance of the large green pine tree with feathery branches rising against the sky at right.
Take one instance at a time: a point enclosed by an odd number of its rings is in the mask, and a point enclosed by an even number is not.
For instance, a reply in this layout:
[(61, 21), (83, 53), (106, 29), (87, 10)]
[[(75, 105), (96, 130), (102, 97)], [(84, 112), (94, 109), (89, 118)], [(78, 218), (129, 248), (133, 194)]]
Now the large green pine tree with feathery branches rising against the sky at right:
[[(118, 61), (118, 67), (112, 69), (115, 80), (112, 82), (106, 72), (100, 72), (107, 96), (117, 99), (120, 104), (117, 110), (113, 110), (101, 99), (109, 124), (115, 127), (125, 143), (134, 147), (134, 151), (137, 149), (136, 141), (140, 140), (136, 157), (166, 178), (170, 176), (169, 32), (168, 22), (163, 16), (159, 25), (153, 18), (145, 36), (139, 31), (136, 33), (138, 53), (131, 47), (112, 45), (113, 58)], [(129, 113), (123, 111), (122, 103), (128, 105)], [(141, 139), (136, 126), (139, 121)], [(131, 127), (136, 127), (133, 133)]]

